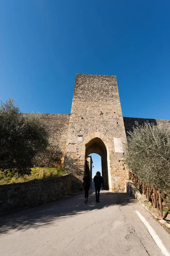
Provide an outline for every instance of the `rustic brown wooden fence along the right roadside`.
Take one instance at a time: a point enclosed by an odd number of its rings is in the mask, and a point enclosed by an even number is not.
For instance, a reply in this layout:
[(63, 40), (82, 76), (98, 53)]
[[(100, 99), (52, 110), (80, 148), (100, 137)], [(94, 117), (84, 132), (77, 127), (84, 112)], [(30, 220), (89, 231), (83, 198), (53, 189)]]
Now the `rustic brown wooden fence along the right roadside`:
[(146, 195), (147, 201), (152, 203), (154, 208), (158, 210), (158, 218), (160, 220), (166, 218), (170, 211), (170, 194), (156, 186), (143, 182), (135, 173), (129, 171), (129, 178), (138, 184), (139, 189), (142, 189), (142, 194)]

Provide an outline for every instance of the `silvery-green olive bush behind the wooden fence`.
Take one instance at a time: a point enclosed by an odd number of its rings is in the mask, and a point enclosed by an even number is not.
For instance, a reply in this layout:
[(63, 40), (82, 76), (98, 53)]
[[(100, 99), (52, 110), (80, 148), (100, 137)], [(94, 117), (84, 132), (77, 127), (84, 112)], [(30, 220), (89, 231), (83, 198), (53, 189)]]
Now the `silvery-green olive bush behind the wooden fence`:
[(148, 122), (128, 133), (125, 161), (142, 181), (170, 191), (170, 129)]

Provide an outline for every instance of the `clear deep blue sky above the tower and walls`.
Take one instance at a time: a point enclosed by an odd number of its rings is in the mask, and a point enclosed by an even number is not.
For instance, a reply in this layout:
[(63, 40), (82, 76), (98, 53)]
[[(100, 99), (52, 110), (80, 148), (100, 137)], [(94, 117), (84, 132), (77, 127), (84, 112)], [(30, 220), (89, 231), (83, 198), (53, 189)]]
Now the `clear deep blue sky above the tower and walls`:
[(116, 75), (123, 116), (170, 119), (170, 1), (1, 0), (0, 99), (70, 113), (76, 73)]

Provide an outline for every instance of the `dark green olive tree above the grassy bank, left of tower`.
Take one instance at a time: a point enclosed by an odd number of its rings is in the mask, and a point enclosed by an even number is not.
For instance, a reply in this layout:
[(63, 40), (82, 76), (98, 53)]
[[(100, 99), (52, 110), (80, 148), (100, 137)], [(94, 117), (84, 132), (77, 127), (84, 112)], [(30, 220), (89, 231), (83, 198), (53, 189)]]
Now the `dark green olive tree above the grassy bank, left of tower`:
[(23, 114), (9, 98), (0, 104), (0, 170), (29, 174), (35, 156), (48, 146), (39, 114)]

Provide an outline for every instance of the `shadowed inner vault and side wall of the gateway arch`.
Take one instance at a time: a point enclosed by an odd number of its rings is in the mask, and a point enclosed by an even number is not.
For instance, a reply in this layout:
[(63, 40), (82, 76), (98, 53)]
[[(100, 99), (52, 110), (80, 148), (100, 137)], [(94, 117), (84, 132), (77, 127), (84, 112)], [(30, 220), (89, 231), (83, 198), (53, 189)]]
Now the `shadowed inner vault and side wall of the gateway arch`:
[[(104, 181), (104, 188), (106, 190), (109, 189), (109, 180), (108, 180), (108, 157), (107, 157), (107, 149), (105, 143), (98, 137), (91, 139), (85, 145), (85, 163), (90, 154), (96, 153), (101, 156), (102, 163), (102, 177)], [(86, 165), (85, 165), (86, 166)], [(85, 168), (86, 172), (86, 168)]]

